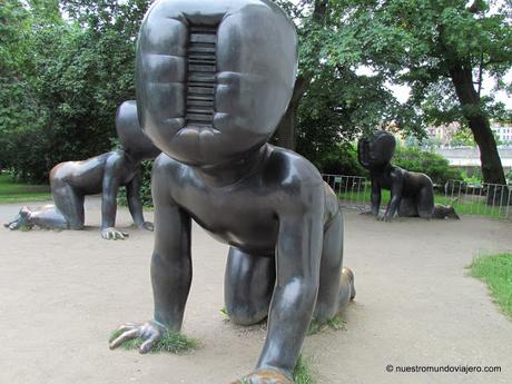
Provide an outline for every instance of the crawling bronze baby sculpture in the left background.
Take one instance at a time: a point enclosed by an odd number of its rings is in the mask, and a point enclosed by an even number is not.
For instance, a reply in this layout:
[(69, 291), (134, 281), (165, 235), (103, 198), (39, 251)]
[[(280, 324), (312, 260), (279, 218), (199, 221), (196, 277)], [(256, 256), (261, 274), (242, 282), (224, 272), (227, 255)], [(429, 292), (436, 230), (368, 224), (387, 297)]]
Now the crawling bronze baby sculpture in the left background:
[(10, 229), (38, 226), (48, 229), (83, 229), (86, 195), (101, 193), (101, 237), (124, 239), (127, 233), (117, 230), (117, 193), (126, 186), (128, 207), (139, 228), (152, 230), (144, 220), (140, 201), (140, 163), (160, 154), (140, 129), (135, 101), (124, 102), (116, 116), (116, 129), (122, 147), (85, 161), (67, 161), (50, 171), (51, 195), (55, 205), (32, 210), (21, 208), (18, 217), (6, 224)]

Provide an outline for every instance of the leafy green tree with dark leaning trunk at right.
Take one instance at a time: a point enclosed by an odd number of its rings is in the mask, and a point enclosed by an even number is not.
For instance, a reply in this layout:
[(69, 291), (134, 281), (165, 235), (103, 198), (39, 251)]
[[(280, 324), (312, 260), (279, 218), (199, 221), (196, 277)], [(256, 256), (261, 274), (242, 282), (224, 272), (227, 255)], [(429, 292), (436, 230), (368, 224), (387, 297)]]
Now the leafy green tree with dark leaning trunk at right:
[[(481, 95), (485, 76), (510, 89), (512, 63), (510, 1), (332, 0), (345, 14), (339, 39), (360, 62), (390, 81), (412, 88), (410, 110), (419, 122), (461, 121), (476, 141), (486, 183), (505, 178), (490, 117), (506, 114)], [(333, 41), (333, 43), (336, 43)]]

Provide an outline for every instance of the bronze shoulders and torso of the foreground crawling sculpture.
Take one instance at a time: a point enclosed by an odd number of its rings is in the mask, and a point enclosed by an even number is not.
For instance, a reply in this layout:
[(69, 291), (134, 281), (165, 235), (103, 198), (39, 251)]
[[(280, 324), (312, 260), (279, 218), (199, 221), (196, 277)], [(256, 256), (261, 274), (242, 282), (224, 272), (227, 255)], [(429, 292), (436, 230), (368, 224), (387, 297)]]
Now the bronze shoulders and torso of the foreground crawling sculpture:
[[(160, 155), (157, 166), (170, 177), (173, 200), (187, 210), (215, 238), (247, 253), (273, 256), (279, 227), (279, 211), (302, 199), (305, 188), (325, 188), (318, 171), (301, 156), (273, 146), (264, 160), (234, 185), (207, 185), (193, 167)], [(328, 190), (328, 189), (326, 189)], [(324, 223), (338, 211), (334, 194), (325, 194)]]

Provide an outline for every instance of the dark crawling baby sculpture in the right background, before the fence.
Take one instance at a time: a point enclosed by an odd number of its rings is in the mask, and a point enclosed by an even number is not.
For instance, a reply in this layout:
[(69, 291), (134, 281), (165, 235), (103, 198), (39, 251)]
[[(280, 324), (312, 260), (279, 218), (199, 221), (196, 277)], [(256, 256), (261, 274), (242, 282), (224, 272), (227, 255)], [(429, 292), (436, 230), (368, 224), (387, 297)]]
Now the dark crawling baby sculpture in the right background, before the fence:
[(383, 219), (390, 221), (397, 213), (403, 217), (431, 218), (434, 213), (434, 187), (425, 174), (407, 171), (393, 166), (395, 137), (384, 130), (364, 137), (357, 146), (363, 167), (372, 180), (372, 214), (378, 217), (382, 188), (391, 190), (391, 199)]

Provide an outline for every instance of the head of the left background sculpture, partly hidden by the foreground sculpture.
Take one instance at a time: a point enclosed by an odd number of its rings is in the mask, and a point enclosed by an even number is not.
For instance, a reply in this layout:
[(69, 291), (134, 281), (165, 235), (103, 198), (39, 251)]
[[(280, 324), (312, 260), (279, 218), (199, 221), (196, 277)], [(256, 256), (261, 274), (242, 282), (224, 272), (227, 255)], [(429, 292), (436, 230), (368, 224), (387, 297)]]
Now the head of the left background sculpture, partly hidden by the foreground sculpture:
[(122, 149), (137, 160), (151, 160), (160, 154), (140, 128), (135, 100), (125, 101), (117, 109), (116, 130)]

